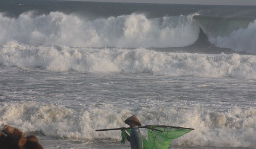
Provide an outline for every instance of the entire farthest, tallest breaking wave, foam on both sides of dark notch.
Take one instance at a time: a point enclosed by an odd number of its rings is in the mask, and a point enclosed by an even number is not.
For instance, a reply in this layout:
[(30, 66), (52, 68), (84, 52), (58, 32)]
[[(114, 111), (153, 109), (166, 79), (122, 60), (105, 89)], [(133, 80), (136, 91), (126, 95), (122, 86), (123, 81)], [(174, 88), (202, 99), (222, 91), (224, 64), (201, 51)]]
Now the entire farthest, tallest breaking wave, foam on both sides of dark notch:
[(153, 19), (144, 14), (130, 14), (89, 20), (61, 12), (36, 17), (34, 13), (29, 11), (17, 18), (0, 13), (0, 43), (15, 40), (32, 45), (71, 47), (184, 47), (198, 40), (201, 28), (216, 47), (256, 53), (256, 23), (251, 18), (238, 18), (239, 23), (235, 24), (234, 20), (228, 20), (219, 25), (221, 20), (198, 17), (199, 14)]

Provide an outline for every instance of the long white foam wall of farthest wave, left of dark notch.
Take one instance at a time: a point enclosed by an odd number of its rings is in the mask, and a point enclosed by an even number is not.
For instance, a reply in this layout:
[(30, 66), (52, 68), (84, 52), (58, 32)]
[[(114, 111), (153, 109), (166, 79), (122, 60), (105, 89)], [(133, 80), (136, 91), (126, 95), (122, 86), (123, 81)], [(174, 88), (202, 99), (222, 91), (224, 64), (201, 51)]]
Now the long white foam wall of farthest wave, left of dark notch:
[(199, 27), (192, 16), (148, 19), (143, 14), (87, 20), (76, 15), (51, 12), (18, 18), (0, 14), (0, 43), (16, 40), (33, 45), (81, 47), (181, 47), (194, 43)]

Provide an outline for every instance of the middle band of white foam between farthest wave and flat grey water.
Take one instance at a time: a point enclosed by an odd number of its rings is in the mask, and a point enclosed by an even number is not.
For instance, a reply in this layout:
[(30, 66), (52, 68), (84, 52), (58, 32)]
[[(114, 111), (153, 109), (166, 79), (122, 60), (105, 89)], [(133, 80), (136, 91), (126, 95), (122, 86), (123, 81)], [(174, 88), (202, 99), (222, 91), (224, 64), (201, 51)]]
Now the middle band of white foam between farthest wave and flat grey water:
[(0, 63), (54, 71), (256, 78), (255, 55), (166, 53), (143, 48), (30, 46), (12, 41), (0, 48)]

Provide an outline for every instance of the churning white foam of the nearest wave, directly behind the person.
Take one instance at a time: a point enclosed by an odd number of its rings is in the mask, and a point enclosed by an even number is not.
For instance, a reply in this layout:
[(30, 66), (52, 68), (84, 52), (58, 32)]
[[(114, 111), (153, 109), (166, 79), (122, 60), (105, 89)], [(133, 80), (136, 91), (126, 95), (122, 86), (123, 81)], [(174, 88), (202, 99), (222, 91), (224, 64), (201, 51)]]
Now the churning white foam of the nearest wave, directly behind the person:
[[(1, 103), (0, 123), (20, 128), (23, 132), (40, 132), (64, 138), (119, 140), (119, 131), (95, 132), (96, 129), (125, 126), (123, 120), (137, 115), (143, 125), (172, 125), (194, 128), (189, 135), (175, 139), (175, 144), (190, 146), (253, 146), (256, 132), (256, 109), (216, 112), (201, 109), (144, 107), (137, 110), (111, 104), (91, 106), (76, 111), (64, 106), (35, 102)], [(104, 117), (104, 118), (103, 118)], [(146, 132), (142, 130), (143, 136)]]

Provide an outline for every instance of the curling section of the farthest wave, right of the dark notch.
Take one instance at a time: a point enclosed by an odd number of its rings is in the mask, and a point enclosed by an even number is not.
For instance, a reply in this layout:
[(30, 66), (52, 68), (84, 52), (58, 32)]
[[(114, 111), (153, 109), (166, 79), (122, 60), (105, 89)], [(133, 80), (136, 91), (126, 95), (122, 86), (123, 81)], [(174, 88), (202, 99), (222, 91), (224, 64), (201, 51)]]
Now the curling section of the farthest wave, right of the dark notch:
[(193, 19), (216, 47), (256, 54), (256, 20), (201, 15)]

